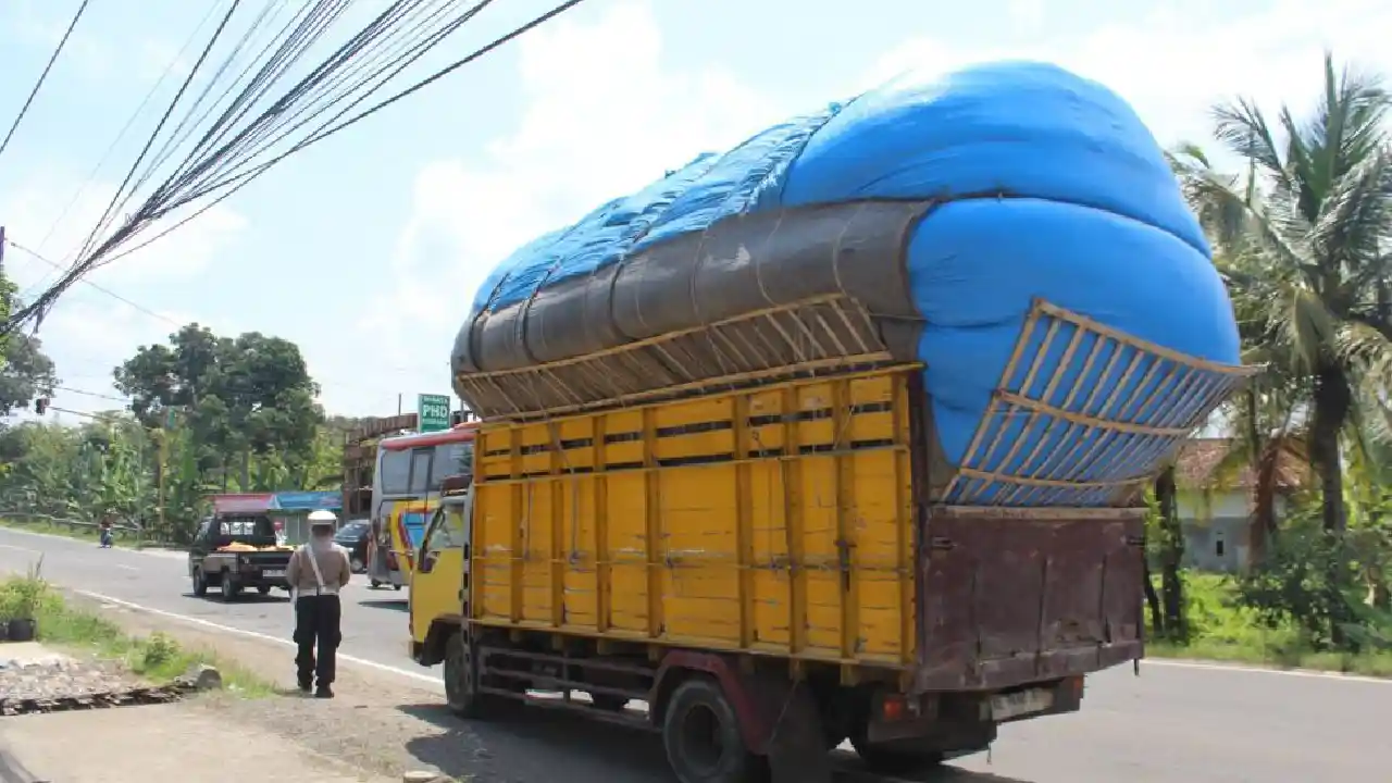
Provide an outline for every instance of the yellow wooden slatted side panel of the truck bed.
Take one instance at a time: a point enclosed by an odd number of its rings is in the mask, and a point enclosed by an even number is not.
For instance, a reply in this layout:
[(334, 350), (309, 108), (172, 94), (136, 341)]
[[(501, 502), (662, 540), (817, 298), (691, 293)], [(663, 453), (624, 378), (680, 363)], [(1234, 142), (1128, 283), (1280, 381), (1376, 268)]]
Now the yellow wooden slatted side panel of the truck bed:
[(912, 372), (486, 424), (472, 619), (910, 667)]

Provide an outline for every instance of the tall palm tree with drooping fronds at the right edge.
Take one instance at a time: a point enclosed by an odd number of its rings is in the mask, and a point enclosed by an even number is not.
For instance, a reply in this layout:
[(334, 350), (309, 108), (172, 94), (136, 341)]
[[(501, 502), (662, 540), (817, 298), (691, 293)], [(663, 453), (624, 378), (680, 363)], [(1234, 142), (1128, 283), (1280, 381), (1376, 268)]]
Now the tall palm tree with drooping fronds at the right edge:
[(1275, 128), (1249, 99), (1214, 109), (1214, 135), (1246, 171), (1218, 173), (1203, 150), (1175, 155), (1214, 241), (1246, 344), (1281, 392), (1303, 392), (1325, 529), (1342, 532), (1340, 435), (1386, 421), (1392, 382), (1392, 98), (1377, 77), (1324, 59), (1324, 95)]

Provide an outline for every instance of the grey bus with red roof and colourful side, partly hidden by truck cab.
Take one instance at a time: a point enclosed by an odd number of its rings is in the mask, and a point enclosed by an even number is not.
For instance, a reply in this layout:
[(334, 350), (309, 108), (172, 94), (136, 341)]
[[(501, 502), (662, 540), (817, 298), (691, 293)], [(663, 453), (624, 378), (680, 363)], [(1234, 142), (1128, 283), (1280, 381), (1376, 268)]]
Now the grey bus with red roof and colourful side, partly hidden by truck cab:
[(367, 548), (372, 587), (401, 589), (409, 584), (415, 552), (440, 504), (444, 479), (473, 472), (477, 429), (479, 422), (465, 422), (443, 432), (383, 437), (377, 443)]

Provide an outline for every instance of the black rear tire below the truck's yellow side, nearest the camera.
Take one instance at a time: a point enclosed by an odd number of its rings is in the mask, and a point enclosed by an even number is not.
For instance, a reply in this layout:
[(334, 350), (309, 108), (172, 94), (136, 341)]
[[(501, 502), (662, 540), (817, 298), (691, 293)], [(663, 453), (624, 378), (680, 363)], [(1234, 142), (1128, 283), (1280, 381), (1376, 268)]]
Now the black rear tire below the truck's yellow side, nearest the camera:
[(739, 718), (714, 681), (693, 677), (677, 687), (663, 718), (667, 762), (681, 783), (746, 783), (766, 765), (745, 747)]

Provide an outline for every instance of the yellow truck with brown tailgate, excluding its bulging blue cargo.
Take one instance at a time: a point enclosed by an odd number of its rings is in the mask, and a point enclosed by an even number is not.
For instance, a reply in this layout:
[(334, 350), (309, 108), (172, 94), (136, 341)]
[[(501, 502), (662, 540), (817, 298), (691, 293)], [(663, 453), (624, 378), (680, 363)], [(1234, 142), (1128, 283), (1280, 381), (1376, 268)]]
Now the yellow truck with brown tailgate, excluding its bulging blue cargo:
[[(1097, 337), (1210, 389), (1190, 419), (1243, 375)], [(810, 736), (812, 757), (849, 738), (902, 773), (1079, 709), (1084, 674), (1143, 652), (1139, 493), (1130, 507), (930, 502), (955, 490), (934, 489), (920, 378), (891, 365), (484, 424), (472, 486), (451, 489), (418, 557), (412, 656), (444, 663), (461, 715), (550, 691), (529, 701), (658, 729), (683, 783), (748, 779), (777, 763), (774, 737), (796, 763)], [(1193, 424), (1070, 418), (1151, 450)], [(1089, 488), (1019, 483), (1070, 486)]]

